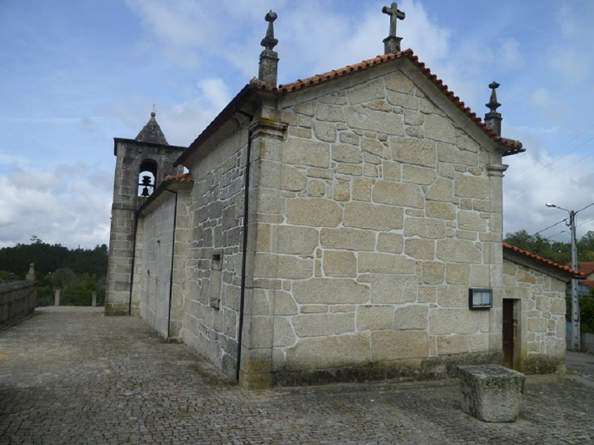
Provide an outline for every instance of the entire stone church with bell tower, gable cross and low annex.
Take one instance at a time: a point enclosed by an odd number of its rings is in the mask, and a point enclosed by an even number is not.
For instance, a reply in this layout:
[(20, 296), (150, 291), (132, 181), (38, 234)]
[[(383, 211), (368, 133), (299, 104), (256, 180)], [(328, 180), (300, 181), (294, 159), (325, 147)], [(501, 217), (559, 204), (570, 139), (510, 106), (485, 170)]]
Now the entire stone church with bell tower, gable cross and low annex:
[(525, 150), (499, 85), (483, 122), (382, 12), (385, 54), (277, 85), (270, 11), (258, 78), (189, 147), (154, 113), (115, 139), (106, 315), (245, 388), (564, 364), (576, 272), (502, 242), (504, 158)]

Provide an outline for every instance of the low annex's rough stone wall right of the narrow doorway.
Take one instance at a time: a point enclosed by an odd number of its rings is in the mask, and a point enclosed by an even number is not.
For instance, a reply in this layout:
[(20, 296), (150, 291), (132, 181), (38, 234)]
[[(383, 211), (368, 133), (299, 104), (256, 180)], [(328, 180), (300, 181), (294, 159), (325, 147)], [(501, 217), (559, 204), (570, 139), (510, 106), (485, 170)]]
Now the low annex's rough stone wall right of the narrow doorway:
[(518, 300), (514, 363), (522, 372), (555, 372), (565, 363), (565, 288), (553, 276), (504, 260), (504, 297)]

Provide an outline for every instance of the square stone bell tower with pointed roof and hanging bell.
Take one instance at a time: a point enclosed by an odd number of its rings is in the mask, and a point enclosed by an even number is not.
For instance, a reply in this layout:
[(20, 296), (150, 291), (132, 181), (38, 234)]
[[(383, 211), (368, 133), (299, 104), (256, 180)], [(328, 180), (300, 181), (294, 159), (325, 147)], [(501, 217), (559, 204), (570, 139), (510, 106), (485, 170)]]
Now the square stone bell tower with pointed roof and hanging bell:
[(116, 175), (113, 179), (111, 232), (107, 265), (105, 315), (130, 315), (130, 286), (134, 268), (137, 227), (136, 211), (151, 199), (166, 175), (183, 173), (173, 163), (186, 147), (170, 146), (161, 131), (156, 113), (151, 113), (135, 139), (113, 138)]

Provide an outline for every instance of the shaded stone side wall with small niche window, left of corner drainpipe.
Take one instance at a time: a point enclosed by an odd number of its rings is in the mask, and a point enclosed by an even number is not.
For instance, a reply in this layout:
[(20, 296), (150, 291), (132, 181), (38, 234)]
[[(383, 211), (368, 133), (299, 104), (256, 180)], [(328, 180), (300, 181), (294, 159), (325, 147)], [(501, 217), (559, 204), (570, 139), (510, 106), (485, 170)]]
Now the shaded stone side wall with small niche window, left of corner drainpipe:
[(228, 376), (237, 362), (247, 129), (191, 166), (183, 327), (188, 344)]

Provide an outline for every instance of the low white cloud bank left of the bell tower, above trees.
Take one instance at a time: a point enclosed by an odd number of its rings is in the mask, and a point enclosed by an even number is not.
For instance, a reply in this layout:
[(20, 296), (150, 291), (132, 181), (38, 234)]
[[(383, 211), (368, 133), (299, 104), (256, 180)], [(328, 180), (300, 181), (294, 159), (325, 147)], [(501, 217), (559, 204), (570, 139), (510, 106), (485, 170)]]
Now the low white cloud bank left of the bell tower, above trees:
[(113, 174), (81, 162), (0, 175), (0, 247), (46, 243), (92, 248), (109, 240)]

